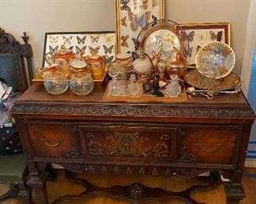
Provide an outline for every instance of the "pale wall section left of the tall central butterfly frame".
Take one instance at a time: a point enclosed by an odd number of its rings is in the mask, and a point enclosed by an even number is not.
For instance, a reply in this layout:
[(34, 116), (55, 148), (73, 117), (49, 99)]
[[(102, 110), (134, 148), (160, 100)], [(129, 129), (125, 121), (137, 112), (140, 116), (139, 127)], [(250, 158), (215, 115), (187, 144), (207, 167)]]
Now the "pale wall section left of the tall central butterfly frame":
[(0, 27), (30, 36), (35, 67), (42, 66), (46, 32), (114, 31), (113, 0), (0, 0)]

